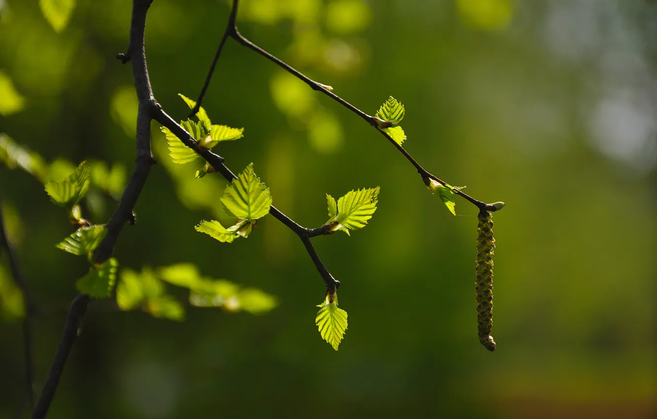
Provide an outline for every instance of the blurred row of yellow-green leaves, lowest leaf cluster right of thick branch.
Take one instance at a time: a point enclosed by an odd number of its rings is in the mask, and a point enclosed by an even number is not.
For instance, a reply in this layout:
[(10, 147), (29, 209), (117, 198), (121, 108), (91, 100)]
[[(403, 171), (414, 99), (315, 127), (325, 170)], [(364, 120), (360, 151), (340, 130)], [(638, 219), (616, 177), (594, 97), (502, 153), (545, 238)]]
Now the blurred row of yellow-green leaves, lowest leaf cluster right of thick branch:
[(246, 311), (260, 315), (271, 311), (278, 301), (256, 288), (240, 288), (227, 280), (202, 276), (191, 263), (150, 269), (141, 273), (123, 269), (116, 287), (116, 303), (122, 310), (142, 309), (153, 317), (183, 320), (185, 307), (166, 293), (165, 282), (189, 290), (189, 304), (194, 307), (220, 307), (225, 311)]

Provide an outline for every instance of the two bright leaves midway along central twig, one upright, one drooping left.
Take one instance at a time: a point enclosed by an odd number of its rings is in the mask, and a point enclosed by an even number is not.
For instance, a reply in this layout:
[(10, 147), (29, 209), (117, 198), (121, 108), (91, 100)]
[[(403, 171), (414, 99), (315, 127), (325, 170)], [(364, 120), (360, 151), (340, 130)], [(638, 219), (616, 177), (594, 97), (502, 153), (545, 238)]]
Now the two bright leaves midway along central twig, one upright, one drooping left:
[(269, 213), (271, 202), (269, 188), (260, 182), (253, 170), (253, 164), (250, 164), (237, 179), (233, 179), (221, 197), (221, 204), (226, 213), (238, 219), (235, 225), (226, 228), (219, 221), (204, 220), (194, 229), (219, 242), (232, 242), (239, 236), (247, 237), (257, 225), (256, 220)]

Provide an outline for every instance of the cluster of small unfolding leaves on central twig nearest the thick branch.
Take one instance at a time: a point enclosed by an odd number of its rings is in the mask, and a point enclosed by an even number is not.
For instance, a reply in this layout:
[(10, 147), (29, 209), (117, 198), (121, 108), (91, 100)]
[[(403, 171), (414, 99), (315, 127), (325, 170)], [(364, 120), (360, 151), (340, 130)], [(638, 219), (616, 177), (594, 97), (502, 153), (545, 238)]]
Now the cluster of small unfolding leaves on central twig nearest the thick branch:
[[(194, 100), (189, 99), (184, 95), (179, 94), (179, 96), (185, 101), (190, 109), (196, 106)], [(208, 113), (203, 107), (200, 107), (198, 112), (196, 112), (196, 118), (198, 118), (197, 122), (188, 119), (186, 121), (181, 121), (180, 126), (196, 140), (199, 147), (210, 150), (221, 141), (232, 141), (244, 137), (244, 128), (213, 125), (208, 117)], [(180, 139), (168, 128), (161, 127), (160, 129), (169, 143), (169, 152), (174, 163), (185, 164), (193, 162), (200, 157), (194, 150), (183, 144), (183, 142), (180, 141)], [(208, 162), (205, 162), (205, 164), (196, 171), (196, 179), (200, 179), (207, 173), (212, 172), (214, 172), (212, 166), (208, 164)]]

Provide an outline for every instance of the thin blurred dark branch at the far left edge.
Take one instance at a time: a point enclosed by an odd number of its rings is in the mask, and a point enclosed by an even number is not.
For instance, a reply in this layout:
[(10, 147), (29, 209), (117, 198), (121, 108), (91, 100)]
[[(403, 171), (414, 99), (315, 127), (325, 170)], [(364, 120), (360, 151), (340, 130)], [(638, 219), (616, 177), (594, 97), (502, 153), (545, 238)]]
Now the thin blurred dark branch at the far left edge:
[(20, 288), (23, 294), (24, 304), (26, 307), (25, 317), (23, 318), (23, 354), (25, 358), (25, 399), (21, 402), (20, 407), (16, 412), (16, 418), (23, 416), (23, 412), (27, 406), (34, 405), (34, 357), (32, 355), (32, 299), (28, 294), (28, 287), (25, 278), (18, 267), (18, 258), (14, 252), (14, 247), (7, 235), (7, 227), (5, 227), (5, 216), (2, 211), (2, 202), (0, 201), (0, 250), (5, 249), (7, 259), (9, 259), (9, 269), (11, 275), (16, 282), (16, 286)]

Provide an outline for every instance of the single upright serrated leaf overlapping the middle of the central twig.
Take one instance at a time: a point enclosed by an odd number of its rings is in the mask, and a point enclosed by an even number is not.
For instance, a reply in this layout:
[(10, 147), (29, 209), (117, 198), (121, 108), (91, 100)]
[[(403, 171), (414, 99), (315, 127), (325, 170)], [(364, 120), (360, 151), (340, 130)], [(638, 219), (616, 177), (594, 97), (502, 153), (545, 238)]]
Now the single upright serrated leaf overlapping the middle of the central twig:
[(226, 212), (240, 219), (255, 220), (269, 213), (271, 194), (253, 171), (253, 164), (233, 179), (221, 197)]

